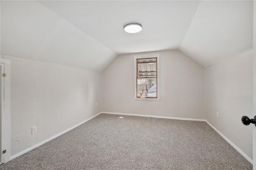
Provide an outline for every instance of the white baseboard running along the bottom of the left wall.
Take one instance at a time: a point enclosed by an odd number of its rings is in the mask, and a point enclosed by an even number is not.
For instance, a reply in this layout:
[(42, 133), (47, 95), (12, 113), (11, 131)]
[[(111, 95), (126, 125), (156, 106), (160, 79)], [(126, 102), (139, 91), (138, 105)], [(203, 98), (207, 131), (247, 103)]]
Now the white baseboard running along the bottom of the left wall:
[(19, 152), (18, 154), (15, 154), (14, 156), (11, 156), (11, 157), (10, 157), (10, 160), (12, 160), (12, 159), (14, 159), (14, 158), (17, 158), (18, 156), (20, 156), (20, 155), (22, 155), (22, 154), (24, 154), (24, 153), (26, 153), (26, 152), (28, 152), (28, 151), (30, 151), (30, 150), (32, 150), (32, 149), (38, 147), (38, 146), (41, 146), (42, 144), (44, 144), (44, 143), (46, 143), (46, 142), (49, 142), (50, 140), (52, 140), (52, 139), (54, 139), (54, 138), (56, 138), (56, 137), (58, 137), (58, 136), (60, 136), (60, 135), (62, 135), (62, 134), (64, 134), (64, 133), (68, 132), (69, 130), (72, 130), (73, 128), (78, 127), (79, 125), (82, 125), (83, 123), (85, 123), (85, 122), (87, 122), (87, 121), (90, 121), (91, 119), (93, 119), (94, 117), (100, 115), (101, 113), (102, 113), (102, 112), (98, 113), (97, 115), (94, 115), (93, 117), (90, 117), (89, 119), (86, 119), (85, 121), (82, 121), (81, 123), (78, 123), (77, 125), (75, 125), (75, 126), (73, 126), (73, 127), (71, 127), (71, 128), (68, 128), (67, 130), (64, 130), (63, 132), (60, 132), (59, 134), (56, 134), (56, 135), (54, 135), (54, 136), (52, 136), (52, 137), (50, 137), (50, 138), (48, 138), (48, 139), (46, 139), (46, 140), (44, 140), (44, 141), (42, 141), (42, 142), (36, 144), (36, 145), (34, 145), (34, 146), (31, 146), (30, 148), (27, 148), (26, 150), (23, 150), (22, 152)]

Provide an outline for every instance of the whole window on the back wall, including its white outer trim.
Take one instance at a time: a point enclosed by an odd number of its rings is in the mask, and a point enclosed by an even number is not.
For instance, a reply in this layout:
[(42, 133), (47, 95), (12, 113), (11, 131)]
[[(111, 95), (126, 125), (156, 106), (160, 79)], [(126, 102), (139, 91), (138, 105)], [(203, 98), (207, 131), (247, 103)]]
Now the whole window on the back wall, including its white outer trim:
[(136, 100), (159, 101), (159, 55), (134, 56)]

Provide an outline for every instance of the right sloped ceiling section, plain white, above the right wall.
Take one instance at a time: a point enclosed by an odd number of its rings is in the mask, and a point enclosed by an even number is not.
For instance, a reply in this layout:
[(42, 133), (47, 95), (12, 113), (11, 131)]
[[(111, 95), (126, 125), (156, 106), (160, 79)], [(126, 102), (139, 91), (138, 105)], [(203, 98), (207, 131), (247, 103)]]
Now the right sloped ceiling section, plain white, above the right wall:
[(202, 1), (180, 50), (203, 66), (252, 49), (252, 1)]

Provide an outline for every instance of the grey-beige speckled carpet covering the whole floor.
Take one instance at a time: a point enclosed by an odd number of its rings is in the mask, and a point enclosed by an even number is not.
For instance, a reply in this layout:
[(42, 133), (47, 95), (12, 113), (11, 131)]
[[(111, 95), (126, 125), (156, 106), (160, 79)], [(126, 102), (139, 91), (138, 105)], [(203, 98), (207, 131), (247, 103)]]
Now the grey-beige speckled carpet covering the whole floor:
[(205, 122), (101, 114), (0, 169), (251, 170), (252, 164)]

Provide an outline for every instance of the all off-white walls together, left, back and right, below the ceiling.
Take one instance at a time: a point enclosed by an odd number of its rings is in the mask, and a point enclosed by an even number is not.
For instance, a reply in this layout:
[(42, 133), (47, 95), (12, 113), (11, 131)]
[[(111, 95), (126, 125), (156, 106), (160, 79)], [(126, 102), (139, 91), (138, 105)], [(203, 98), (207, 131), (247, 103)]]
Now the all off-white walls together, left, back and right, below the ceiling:
[[(134, 55), (147, 54), (160, 54), (160, 101), (134, 101)], [(103, 73), (1, 57), (11, 60), (11, 156), (105, 111), (206, 119), (252, 158), (252, 125), (241, 123), (252, 114), (252, 50), (205, 68), (178, 50), (126, 54)]]

